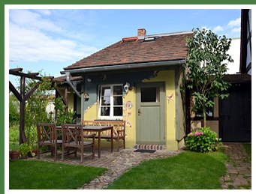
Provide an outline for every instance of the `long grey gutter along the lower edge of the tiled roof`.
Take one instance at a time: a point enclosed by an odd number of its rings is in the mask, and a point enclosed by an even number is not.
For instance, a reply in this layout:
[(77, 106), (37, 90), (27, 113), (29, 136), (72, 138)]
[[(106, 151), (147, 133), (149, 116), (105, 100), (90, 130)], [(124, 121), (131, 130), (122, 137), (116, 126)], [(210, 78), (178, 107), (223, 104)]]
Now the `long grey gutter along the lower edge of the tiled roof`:
[(64, 70), (61, 71), (62, 74), (71, 73), (91, 73), (98, 71), (110, 71), (110, 70), (129, 70), (129, 69), (137, 69), (143, 67), (167, 67), (173, 65), (185, 64), (185, 60), (176, 60), (176, 61), (159, 61), (159, 62), (149, 62), (149, 63), (137, 63), (137, 64), (120, 64), (120, 65), (110, 65), (110, 66), (100, 66), (100, 67), (86, 67), (80, 69), (73, 70)]

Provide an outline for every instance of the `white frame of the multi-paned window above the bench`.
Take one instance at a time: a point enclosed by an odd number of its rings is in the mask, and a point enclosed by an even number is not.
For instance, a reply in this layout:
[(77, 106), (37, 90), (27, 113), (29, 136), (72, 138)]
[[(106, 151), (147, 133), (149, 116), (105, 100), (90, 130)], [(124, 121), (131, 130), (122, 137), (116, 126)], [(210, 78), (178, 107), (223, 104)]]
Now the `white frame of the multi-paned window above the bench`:
[[(122, 87), (122, 94), (113, 94), (114, 93), (114, 86), (121, 86)], [(110, 87), (110, 115), (109, 116), (102, 116), (101, 115), (101, 107), (102, 106), (102, 88)], [(108, 85), (100, 85), (99, 90), (99, 105), (98, 105), (98, 119), (102, 120), (122, 120), (123, 119), (123, 112), (122, 116), (114, 116), (114, 107), (122, 107), (123, 109), (123, 84), (108, 84)], [(114, 105), (114, 97), (121, 97), (122, 96), (122, 105)]]

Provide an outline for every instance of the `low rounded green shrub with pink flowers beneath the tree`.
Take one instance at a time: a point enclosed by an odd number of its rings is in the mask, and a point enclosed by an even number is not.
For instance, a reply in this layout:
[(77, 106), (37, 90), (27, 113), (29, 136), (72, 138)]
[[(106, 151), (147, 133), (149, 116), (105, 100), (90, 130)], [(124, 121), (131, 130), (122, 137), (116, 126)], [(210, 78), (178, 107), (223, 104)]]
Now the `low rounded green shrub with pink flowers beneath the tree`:
[(185, 146), (189, 151), (209, 152), (216, 151), (221, 139), (218, 139), (217, 133), (213, 132), (210, 127), (204, 127), (195, 130), (185, 137)]

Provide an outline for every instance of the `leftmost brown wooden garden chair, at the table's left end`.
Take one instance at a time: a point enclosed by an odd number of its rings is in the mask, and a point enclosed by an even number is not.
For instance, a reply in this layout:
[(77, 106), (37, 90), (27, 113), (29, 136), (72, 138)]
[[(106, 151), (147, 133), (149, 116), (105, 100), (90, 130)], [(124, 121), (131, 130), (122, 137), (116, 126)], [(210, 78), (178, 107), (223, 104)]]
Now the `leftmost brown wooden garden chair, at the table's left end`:
[(54, 161), (57, 157), (57, 148), (62, 145), (62, 140), (58, 139), (56, 124), (37, 124), (38, 129), (38, 159), (40, 159), (40, 148), (43, 145), (50, 146)]

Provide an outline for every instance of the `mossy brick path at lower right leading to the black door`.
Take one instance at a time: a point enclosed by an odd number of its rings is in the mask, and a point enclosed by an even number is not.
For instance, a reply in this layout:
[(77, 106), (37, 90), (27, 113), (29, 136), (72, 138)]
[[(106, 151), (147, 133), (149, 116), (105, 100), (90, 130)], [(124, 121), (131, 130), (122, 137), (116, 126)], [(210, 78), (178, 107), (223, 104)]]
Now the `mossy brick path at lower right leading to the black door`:
[(251, 160), (239, 143), (224, 143), (227, 173), (220, 179), (224, 190), (251, 190)]

